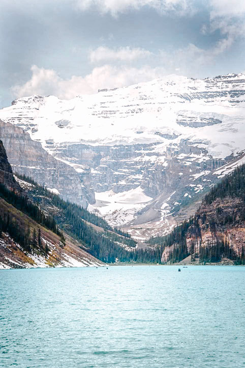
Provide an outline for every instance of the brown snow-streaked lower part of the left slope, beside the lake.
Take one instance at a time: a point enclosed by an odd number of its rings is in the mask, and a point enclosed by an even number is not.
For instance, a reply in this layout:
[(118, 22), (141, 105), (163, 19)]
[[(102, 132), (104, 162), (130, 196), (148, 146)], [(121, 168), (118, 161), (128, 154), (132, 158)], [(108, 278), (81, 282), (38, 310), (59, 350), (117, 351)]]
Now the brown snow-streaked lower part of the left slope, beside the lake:
[[(5, 229), (1, 221), (0, 237), (0, 269), (9, 268), (36, 268), (36, 267), (86, 267), (103, 266), (104, 264), (84, 251), (78, 242), (65, 234), (65, 247), (60, 241), (60, 237), (40, 226), (28, 216), (18, 211), (14, 206), (0, 198), (1, 218), (11, 217), (15, 233), (9, 234), (9, 224)], [(12, 225), (11, 225), (12, 226)], [(15, 240), (15, 234), (19, 235), (19, 228), (25, 228), (26, 234), (30, 231), (30, 248), (25, 248)], [(41, 247), (33, 241), (33, 233), (36, 230), (41, 232)]]

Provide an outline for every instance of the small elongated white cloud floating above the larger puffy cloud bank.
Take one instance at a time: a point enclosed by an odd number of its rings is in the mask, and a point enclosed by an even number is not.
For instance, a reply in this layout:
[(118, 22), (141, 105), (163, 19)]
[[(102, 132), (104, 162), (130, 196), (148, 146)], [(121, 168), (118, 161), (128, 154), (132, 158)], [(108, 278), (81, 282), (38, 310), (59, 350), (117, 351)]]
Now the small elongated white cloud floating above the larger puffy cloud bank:
[(150, 51), (139, 47), (131, 48), (127, 46), (119, 47), (117, 49), (111, 49), (109, 47), (101, 46), (89, 52), (89, 60), (91, 63), (101, 63), (105, 61), (131, 62), (139, 58), (145, 58), (150, 55)]

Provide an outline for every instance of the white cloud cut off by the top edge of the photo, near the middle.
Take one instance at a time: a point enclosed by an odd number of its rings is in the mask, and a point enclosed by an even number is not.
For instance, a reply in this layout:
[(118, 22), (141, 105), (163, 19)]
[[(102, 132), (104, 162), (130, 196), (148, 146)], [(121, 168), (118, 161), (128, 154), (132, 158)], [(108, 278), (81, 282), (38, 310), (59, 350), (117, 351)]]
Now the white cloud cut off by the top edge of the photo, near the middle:
[(190, 12), (191, 0), (75, 0), (81, 10), (96, 8), (101, 13), (111, 13), (117, 16), (128, 10), (139, 10), (148, 6), (161, 12), (175, 11), (179, 14)]

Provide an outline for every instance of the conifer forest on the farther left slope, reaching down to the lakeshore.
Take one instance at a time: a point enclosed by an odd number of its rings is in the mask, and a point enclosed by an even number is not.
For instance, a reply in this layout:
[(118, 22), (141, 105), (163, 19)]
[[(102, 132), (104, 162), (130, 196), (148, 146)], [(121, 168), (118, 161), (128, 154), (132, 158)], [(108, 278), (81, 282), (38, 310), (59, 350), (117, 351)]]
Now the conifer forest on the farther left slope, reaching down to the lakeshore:
[[(111, 227), (101, 217), (77, 204), (63, 200), (44, 186), (38, 185), (33, 179), (24, 175), (16, 175), (21, 180), (33, 184), (34, 187), (30, 189), (28, 195), (30, 194), (37, 204), (43, 206), (46, 203), (49, 207), (55, 206), (61, 210), (62, 214), (60, 211), (53, 212), (59, 227), (78, 240), (84, 249), (95, 257), (109, 263), (115, 262), (116, 259), (121, 262), (161, 262), (161, 248), (149, 247), (145, 250), (137, 250), (136, 242), (131, 239), (129, 233)], [(88, 223), (97, 225), (104, 231), (98, 232)]]

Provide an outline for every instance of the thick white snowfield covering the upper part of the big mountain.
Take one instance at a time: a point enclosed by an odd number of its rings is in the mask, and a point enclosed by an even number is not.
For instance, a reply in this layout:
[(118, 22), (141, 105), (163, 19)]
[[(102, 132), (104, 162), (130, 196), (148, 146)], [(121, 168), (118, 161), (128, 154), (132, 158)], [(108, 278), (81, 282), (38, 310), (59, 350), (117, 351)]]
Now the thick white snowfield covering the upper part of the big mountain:
[[(220, 158), (241, 149), (244, 99), (244, 74), (205, 80), (168, 75), (71, 100), (38, 95), (19, 98), (0, 111), (0, 118), (22, 127), (46, 149), (65, 142), (168, 143), (166, 135), (173, 135), (176, 143), (180, 139), (205, 141), (209, 153)], [(198, 125), (200, 119), (203, 123)], [(212, 124), (217, 119), (219, 124)]]

